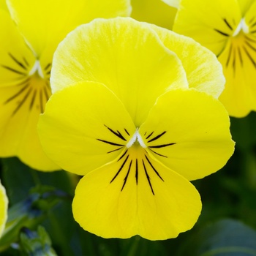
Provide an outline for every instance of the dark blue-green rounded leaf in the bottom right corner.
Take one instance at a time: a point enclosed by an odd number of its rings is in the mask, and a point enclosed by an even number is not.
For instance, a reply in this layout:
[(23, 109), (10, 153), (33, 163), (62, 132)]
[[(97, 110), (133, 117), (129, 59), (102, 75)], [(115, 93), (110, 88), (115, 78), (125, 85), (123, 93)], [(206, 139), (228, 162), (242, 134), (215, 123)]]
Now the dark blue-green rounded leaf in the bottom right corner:
[[(189, 250), (189, 251), (188, 251)], [(208, 225), (192, 238), (187, 252), (193, 256), (256, 255), (256, 231), (241, 222), (224, 219)]]

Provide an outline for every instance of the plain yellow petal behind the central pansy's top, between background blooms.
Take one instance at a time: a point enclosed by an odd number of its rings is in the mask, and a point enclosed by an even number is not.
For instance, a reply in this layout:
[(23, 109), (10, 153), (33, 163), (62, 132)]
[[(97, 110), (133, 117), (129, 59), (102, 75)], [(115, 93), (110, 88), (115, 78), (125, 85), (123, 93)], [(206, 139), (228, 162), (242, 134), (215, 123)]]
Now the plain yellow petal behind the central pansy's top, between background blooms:
[(166, 29), (172, 29), (176, 12), (176, 8), (167, 6), (161, 0), (132, 0), (132, 18)]

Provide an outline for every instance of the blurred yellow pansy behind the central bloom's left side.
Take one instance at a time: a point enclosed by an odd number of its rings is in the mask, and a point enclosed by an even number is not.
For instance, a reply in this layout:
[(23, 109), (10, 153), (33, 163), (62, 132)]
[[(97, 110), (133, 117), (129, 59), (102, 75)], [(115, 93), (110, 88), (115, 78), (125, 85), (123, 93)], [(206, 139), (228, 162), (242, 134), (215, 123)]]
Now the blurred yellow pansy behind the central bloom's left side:
[[(129, 15), (128, 0), (9, 0), (0, 10), (0, 157), (37, 170), (59, 167), (39, 145), (37, 121), (51, 94), (53, 52), (66, 34), (97, 17)], [(15, 23), (13, 22), (15, 21)]]

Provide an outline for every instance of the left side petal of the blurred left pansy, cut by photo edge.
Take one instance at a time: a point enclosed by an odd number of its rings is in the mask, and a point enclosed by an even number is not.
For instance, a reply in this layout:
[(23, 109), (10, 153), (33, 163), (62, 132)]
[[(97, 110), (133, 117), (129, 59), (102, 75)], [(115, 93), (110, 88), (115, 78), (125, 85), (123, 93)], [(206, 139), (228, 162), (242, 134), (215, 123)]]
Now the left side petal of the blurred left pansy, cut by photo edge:
[(8, 12), (0, 10), (0, 87), (22, 83), (35, 58)]

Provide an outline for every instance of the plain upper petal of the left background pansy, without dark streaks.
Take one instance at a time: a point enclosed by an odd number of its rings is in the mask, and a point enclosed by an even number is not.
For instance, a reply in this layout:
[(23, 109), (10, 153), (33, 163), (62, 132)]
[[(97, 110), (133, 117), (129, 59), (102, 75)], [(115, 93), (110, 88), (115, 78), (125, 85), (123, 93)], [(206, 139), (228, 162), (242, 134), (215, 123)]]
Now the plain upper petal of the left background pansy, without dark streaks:
[(126, 16), (130, 12), (128, 0), (7, 0), (7, 4), (37, 55), (46, 51), (50, 58), (61, 39), (76, 26), (94, 18)]

